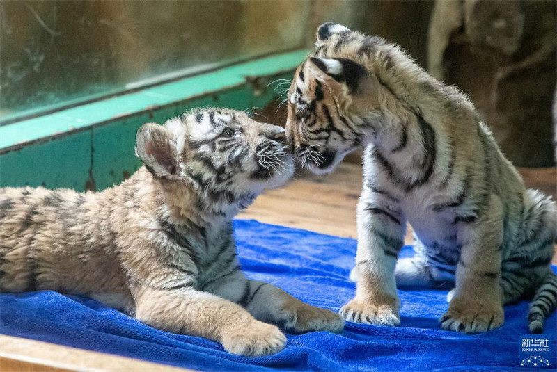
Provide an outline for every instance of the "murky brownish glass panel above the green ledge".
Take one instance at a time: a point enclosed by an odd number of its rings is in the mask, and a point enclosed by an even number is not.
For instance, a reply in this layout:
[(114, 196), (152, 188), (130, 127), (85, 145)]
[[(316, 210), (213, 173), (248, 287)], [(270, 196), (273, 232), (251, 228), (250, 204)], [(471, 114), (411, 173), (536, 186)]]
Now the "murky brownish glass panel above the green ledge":
[(310, 1), (0, 3), (0, 120), (304, 45)]

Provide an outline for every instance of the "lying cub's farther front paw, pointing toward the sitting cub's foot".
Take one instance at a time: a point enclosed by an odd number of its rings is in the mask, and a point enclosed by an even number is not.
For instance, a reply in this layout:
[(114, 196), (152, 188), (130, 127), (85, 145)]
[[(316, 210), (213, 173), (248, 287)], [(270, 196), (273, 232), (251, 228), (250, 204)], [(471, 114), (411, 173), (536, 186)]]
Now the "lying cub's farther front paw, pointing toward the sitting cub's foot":
[(315, 331), (340, 332), (344, 328), (343, 318), (336, 312), (296, 302), (285, 305), (278, 314), (277, 323), (287, 332), (306, 333)]

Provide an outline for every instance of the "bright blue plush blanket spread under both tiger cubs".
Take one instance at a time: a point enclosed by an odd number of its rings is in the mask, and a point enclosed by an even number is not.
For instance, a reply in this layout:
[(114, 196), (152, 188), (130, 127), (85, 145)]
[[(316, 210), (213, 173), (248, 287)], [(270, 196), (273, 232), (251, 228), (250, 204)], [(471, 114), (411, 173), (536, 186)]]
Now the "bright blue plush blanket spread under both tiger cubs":
[[(272, 282), (301, 300), (334, 311), (352, 298), (354, 283), (348, 280), (348, 273), (354, 264), (356, 241), (256, 221), (237, 220), (235, 227), (242, 266), (250, 277)], [(411, 248), (401, 254), (411, 255)], [(399, 327), (347, 323), (342, 334), (288, 334), (286, 348), (268, 357), (230, 355), (213, 341), (162, 332), (99, 302), (54, 291), (0, 295), (0, 330), (204, 371), (528, 370), (519, 360), (520, 335), (528, 333), (528, 302), (505, 307), (505, 325), (500, 329), (466, 335), (439, 328), (437, 318), (447, 307), (446, 291), (399, 293)], [(553, 353), (557, 350), (556, 329), (554, 313), (545, 325)], [(551, 367), (555, 363), (554, 357)]]

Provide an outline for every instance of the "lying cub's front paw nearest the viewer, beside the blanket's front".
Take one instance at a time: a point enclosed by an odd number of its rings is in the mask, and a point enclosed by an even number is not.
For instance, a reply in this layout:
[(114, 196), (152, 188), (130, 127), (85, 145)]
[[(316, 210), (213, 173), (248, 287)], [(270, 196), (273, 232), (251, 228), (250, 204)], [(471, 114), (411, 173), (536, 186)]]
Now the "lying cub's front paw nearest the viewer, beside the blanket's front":
[(286, 337), (278, 327), (254, 320), (246, 327), (225, 332), (221, 343), (228, 353), (261, 357), (283, 350)]

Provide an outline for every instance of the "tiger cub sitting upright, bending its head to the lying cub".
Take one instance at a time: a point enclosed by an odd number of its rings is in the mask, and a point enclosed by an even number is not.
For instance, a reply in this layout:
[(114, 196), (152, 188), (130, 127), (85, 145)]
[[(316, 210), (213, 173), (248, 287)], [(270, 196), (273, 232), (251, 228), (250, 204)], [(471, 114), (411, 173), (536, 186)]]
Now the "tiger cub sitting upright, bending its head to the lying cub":
[[(326, 23), (296, 70), (287, 137), (314, 172), (365, 147), (356, 296), (347, 321), (400, 323), (396, 285), (453, 283), (441, 327), (484, 332), (533, 296), (531, 332), (556, 307), (556, 205), (526, 190), (476, 108), (396, 45)], [(400, 259), (407, 221), (416, 256)]]

